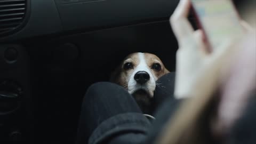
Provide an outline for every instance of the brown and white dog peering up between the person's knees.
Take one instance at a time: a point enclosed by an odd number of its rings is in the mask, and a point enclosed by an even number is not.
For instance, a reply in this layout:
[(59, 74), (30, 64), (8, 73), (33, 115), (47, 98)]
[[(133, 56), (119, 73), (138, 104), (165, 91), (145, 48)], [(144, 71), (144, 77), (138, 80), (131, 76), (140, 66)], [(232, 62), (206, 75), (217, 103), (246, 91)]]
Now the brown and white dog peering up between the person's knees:
[(163, 62), (151, 53), (129, 54), (111, 75), (110, 82), (123, 86), (143, 113), (149, 113), (150, 103), (154, 97), (156, 81), (170, 73)]

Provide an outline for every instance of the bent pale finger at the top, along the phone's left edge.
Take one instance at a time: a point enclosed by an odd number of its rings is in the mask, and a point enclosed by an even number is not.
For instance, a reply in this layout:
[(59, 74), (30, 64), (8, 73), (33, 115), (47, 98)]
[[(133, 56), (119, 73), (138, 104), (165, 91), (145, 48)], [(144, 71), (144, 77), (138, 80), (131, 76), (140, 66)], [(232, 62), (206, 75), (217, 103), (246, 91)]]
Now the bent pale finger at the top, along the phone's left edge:
[(187, 19), (189, 8), (190, 1), (181, 0), (170, 19), (173, 33), (179, 43), (181, 43), (183, 38), (193, 35), (193, 27)]

